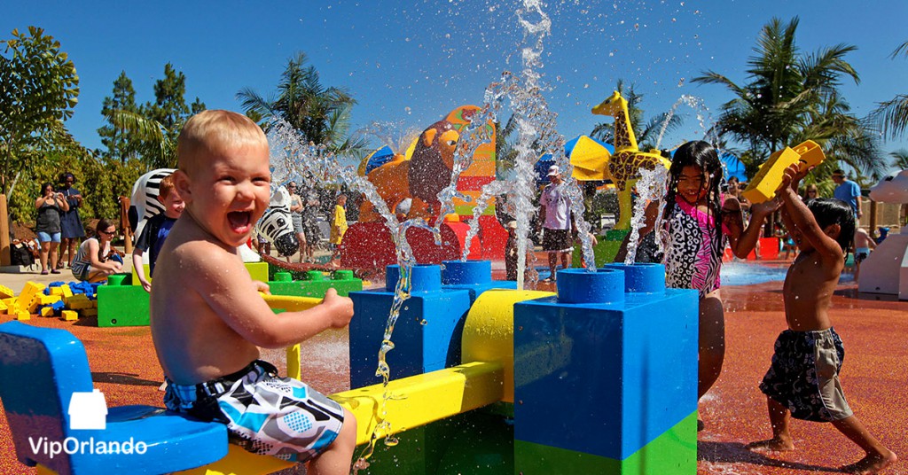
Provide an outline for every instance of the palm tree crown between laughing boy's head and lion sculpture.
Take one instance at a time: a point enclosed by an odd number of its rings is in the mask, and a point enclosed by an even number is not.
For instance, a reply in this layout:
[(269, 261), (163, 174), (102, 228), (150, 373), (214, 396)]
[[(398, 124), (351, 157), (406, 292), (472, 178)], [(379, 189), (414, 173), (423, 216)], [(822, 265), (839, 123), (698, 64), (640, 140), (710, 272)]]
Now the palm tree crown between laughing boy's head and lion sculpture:
[(322, 85), (318, 70), (307, 62), (302, 52), (288, 61), (274, 97), (266, 99), (248, 87), (236, 97), (247, 115), (281, 118), (309, 142), (323, 144), (334, 153), (361, 155), (366, 140), (350, 134), (350, 110), (356, 100), (342, 88)]

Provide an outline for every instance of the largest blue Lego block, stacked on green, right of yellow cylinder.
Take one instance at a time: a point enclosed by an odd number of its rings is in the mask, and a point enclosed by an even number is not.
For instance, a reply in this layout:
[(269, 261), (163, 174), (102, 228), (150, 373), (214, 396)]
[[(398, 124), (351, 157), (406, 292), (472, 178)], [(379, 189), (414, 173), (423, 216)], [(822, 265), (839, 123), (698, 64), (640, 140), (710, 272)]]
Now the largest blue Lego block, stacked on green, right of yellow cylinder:
[(515, 438), (626, 460), (685, 420), (698, 305), (696, 291), (665, 289), (661, 264), (559, 271), (558, 297), (514, 307)]

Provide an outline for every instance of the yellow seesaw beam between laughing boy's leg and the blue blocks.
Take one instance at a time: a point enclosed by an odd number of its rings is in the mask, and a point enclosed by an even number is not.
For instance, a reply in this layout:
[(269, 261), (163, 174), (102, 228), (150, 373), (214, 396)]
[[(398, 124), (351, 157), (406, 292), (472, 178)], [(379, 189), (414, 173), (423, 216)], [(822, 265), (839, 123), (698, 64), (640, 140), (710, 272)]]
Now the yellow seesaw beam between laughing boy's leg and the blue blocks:
[[(372, 430), (389, 421), (389, 433), (426, 425), (462, 412), (501, 401), (504, 370), (498, 362), (470, 362), (445, 370), (432, 371), (381, 384), (331, 395), (356, 416), (356, 444), (369, 443)], [(385, 391), (391, 395), (384, 407)]]

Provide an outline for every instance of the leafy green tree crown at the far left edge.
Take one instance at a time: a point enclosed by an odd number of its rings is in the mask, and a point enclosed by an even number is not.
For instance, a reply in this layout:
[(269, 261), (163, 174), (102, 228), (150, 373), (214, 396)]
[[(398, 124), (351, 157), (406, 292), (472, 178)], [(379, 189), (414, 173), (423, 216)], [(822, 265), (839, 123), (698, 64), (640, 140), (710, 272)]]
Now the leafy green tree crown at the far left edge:
[(0, 192), (34, 167), (41, 151), (65, 134), (79, 95), (75, 65), (60, 42), (29, 26), (0, 41)]

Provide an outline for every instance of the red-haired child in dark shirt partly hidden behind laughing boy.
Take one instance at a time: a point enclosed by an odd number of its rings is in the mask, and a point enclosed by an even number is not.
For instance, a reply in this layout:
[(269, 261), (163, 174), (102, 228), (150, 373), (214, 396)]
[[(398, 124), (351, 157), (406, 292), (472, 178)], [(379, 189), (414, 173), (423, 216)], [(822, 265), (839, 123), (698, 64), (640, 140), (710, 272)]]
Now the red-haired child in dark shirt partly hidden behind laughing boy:
[(133, 269), (135, 275), (142, 282), (142, 288), (145, 292), (152, 292), (152, 284), (145, 277), (145, 266), (142, 264), (142, 254), (149, 251), (148, 267), (149, 277), (154, 274), (154, 262), (158, 260), (158, 255), (163, 247), (167, 234), (170, 233), (173, 223), (183, 214), (183, 198), (180, 193), (176, 192), (173, 186), (173, 175), (167, 175), (161, 180), (161, 188), (158, 194), (158, 201), (164, 205), (164, 212), (158, 213), (149, 218), (148, 223), (142, 229), (142, 234), (135, 242), (133, 249)]

